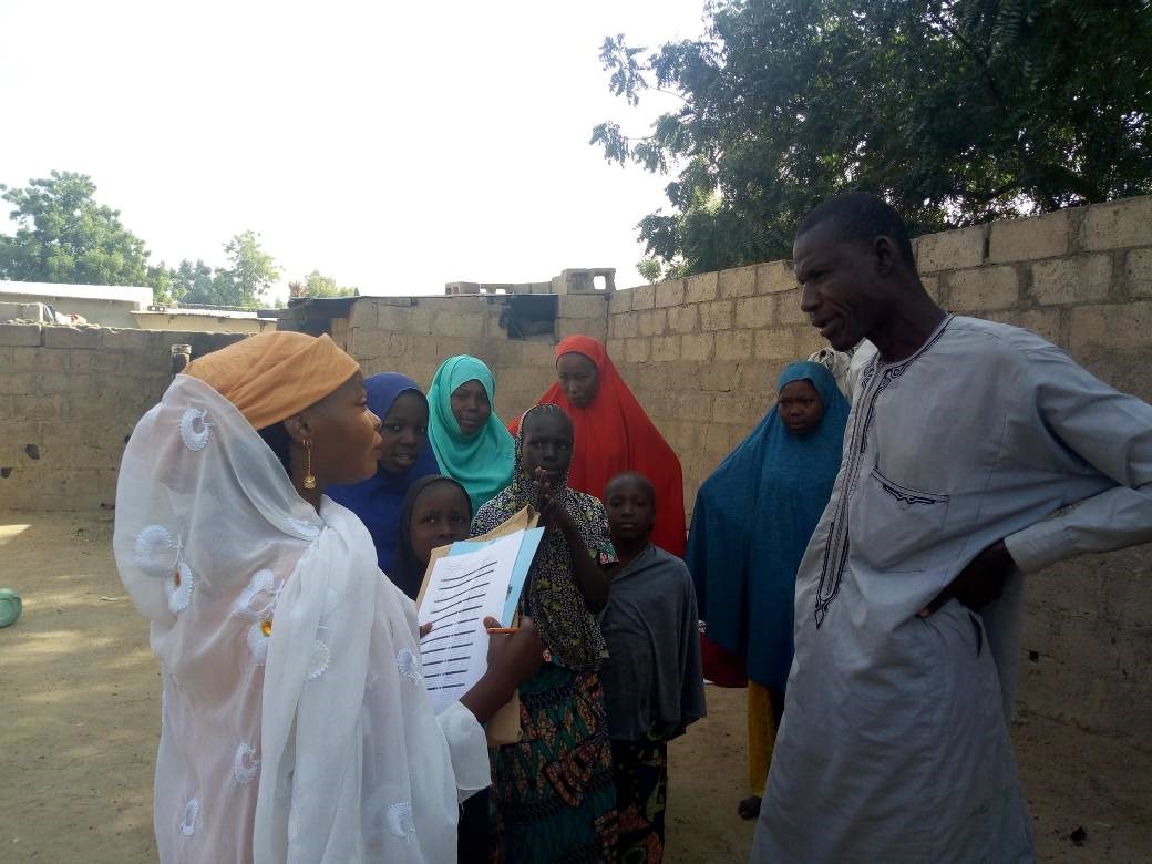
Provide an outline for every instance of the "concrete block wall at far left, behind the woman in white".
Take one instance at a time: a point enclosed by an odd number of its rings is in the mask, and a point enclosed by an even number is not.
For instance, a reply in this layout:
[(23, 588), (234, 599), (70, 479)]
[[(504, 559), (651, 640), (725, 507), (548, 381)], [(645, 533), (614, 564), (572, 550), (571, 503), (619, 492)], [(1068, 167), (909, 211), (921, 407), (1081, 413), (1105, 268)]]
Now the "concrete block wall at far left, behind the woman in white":
[(0, 324), (0, 506), (113, 505), (124, 441), (172, 381), (170, 346), (198, 357), (243, 338)]

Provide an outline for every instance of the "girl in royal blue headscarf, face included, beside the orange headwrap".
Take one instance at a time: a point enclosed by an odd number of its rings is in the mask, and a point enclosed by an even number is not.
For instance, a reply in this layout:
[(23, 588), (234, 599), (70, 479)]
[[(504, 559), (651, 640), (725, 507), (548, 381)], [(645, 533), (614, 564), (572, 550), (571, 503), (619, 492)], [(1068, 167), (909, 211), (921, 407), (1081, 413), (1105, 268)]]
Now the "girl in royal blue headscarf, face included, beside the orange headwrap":
[[(380, 569), (392, 575), (400, 537), (404, 495), (416, 480), (439, 473), (429, 444), (429, 403), (416, 381), (385, 372), (364, 381), (367, 407), (380, 418), (380, 456), (371, 479), (351, 486), (329, 487), (327, 494), (359, 516), (372, 535)], [(415, 590), (400, 585), (415, 599)], [(416, 589), (419, 589), (417, 583)]]

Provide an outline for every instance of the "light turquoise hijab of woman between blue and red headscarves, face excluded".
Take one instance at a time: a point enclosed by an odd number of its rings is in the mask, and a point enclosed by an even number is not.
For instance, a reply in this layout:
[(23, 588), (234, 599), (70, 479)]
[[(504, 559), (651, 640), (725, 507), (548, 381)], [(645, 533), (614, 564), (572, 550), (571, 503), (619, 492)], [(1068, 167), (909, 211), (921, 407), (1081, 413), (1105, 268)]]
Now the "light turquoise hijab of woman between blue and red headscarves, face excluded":
[(495, 408), (471, 438), (460, 431), (452, 414), (452, 394), (468, 381), (479, 381), (488, 403), (495, 402), (497, 381), (483, 361), (464, 354), (449, 357), (435, 371), (429, 389), (429, 440), (441, 472), (468, 490), (476, 513), (511, 483), (516, 446)]

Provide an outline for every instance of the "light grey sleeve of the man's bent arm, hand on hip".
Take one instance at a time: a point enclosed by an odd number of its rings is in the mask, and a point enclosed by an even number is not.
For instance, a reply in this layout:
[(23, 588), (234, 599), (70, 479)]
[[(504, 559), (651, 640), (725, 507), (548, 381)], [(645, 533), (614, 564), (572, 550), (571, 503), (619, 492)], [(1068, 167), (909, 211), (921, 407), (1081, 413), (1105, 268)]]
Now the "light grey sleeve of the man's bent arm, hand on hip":
[(1119, 393), (1053, 346), (1030, 351), (1044, 423), (1116, 487), (1064, 507), (1005, 539), (1034, 573), (1086, 552), (1152, 540), (1152, 406)]

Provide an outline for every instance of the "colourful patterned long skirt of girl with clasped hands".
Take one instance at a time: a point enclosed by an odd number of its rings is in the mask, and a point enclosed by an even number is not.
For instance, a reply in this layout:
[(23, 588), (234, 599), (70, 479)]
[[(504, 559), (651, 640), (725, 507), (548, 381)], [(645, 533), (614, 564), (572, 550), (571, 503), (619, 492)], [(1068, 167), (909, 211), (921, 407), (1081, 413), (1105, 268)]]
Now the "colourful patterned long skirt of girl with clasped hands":
[(616, 861), (616, 795), (596, 673), (545, 664), (520, 688), (520, 743), (494, 748), (495, 859)]

